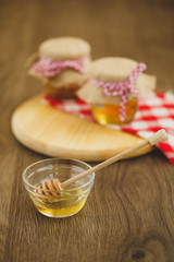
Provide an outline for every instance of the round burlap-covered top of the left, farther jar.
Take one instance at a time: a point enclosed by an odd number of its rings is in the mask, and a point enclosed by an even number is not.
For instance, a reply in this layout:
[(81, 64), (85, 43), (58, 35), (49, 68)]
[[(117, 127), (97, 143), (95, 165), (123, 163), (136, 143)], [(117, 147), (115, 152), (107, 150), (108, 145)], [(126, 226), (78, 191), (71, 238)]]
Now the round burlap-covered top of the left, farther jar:
[(39, 55), (53, 60), (78, 59), (89, 52), (90, 45), (77, 37), (51, 38), (39, 46)]

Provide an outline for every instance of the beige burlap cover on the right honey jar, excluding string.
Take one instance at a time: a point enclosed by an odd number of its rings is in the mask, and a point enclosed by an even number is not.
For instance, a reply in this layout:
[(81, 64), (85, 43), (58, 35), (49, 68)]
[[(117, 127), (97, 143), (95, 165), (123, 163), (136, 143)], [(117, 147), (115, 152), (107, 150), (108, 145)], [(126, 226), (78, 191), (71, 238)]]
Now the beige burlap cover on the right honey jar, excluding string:
[[(125, 82), (137, 66), (138, 62), (133, 59), (120, 57), (101, 58), (94, 61), (89, 71), (89, 81), (77, 92), (77, 96), (89, 104), (120, 105), (122, 95), (105, 96), (102, 84), (100, 83), (99, 87), (91, 80), (104, 83)], [(140, 95), (147, 95), (156, 88), (156, 76), (140, 73), (133, 88), (137, 90)], [(127, 100), (135, 98), (135, 93), (129, 92)]]

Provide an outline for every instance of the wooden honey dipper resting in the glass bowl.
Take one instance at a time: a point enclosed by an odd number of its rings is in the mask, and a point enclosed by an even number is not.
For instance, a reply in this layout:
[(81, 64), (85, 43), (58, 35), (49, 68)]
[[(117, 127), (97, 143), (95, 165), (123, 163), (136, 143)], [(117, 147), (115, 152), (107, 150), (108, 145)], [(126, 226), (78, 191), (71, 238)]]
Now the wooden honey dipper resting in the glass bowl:
[[(146, 146), (146, 145), (154, 145), (157, 143), (160, 143), (160, 142), (163, 142), (167, 140), (167, 134), (165, 132), (164, 129), (161, 129), (159, 130), (157, 133), (150, 135), (146, 141), (100, 163), (99, 165), (96, 165), (95, 167), (88, 169), (88, 170), (85, 170), (80, 174), (78, 174), (77, 176), (75, 177), (72, 177), (70, 179), (67, 179), (66, 181), (64, 182), (60, 182), (58, 178), (54, 178), (54, 179), (50, 179), (46, 182), (42, 182), (41, 184), (38, 186), (38, 189), (36, 190), (37, 193), (40, 193), (40, 194), (45, 194), (47, 196), (58, 196), (61, 194), (61, 191), (67, 187), (70, 183), (73, 183), (75, 182), (76, 180), (94, 172), (94, 171), (98, 171), (100, 170), (101, 168), (103, 167), (107, 167), (109, 165), (111, 165), (112, 163), (116, 162), (116, 160), (120, 160), (122, 159), (123, 157), (132, 154), (133, 152), (137, 151), (137, 150), (140, 150), (141, 147)], [(48, 191), (49, 190), (49, 191)]]

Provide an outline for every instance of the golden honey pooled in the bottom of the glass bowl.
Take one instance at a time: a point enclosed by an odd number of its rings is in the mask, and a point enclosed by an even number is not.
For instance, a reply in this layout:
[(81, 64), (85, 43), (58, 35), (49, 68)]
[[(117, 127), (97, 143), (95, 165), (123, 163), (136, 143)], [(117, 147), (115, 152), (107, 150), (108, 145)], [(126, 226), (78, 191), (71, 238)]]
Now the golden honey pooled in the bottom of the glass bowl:
[(65, 191), (63, 195), (49, 198), (48, 200), (42, 196), (30, 195), (36, 209), (41, 214), (51, 217), (66, 217), (76, 214), (83, 209), (87, 196), (88, 194), (83, 193), (82, 190), (76, 190), (73, 194)]

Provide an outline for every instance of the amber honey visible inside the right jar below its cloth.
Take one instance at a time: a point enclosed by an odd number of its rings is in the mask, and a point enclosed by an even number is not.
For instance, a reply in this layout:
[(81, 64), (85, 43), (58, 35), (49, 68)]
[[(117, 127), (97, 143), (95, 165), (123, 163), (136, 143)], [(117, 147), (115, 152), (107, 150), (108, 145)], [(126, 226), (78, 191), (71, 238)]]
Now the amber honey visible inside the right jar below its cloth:
[(126, 103), (126, 118), (124, 121), (120, 120), (120, 106), (104, 104), (102, 106), (91, 106), (94, 118), (101, 124), (124, 124), (129, 122), (138, 108), (137, 98)]

